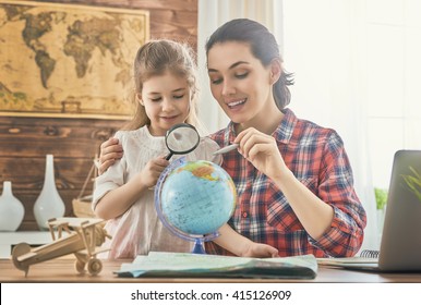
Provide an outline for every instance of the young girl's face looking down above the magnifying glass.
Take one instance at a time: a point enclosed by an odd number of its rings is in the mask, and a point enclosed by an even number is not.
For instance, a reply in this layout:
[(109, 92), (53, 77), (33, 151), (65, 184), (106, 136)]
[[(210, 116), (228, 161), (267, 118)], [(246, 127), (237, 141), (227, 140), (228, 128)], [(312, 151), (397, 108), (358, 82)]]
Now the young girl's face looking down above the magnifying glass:
[(183, 123), (190, 111), (190, 87), (185, 77), (166, 72), (143, 83), (137, 95), (151, 120), (149, 132), (164, 136), (175, 124)]

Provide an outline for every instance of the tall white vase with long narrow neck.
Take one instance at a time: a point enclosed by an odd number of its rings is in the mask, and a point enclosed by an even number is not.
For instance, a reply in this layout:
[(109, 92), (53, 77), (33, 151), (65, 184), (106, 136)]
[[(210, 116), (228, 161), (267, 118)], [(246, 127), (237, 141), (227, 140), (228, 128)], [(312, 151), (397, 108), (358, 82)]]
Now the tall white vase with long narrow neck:
[(53, 160), (52, 155), (47, 155), (43, 190), (34, 205), (35, 220), (40, 230), (48, 230), (48, 220), (63, 217), (65, 211), (63, 199), (56, 187)]

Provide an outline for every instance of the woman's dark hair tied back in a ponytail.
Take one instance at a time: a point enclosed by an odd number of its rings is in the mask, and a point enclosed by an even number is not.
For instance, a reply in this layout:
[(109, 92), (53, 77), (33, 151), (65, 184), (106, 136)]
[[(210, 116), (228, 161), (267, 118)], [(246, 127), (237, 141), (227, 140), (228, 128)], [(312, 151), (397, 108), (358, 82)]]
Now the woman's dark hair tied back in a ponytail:
[[(227, 22), (212, 34), (206, 42), (206, 56), (215, 44), (239, 41), (250, 45), (251, 52), (264, 66), (268, 66), (274, 59), (282, 59), (274, 35), (262, 24), (248, 20), (237, 19)], [(293, 84), (292, 73), (282, 69), (279, 80), (274, 85), (276, 106), (282, 110), (290, 101), (291, 94), (288, 86)]]

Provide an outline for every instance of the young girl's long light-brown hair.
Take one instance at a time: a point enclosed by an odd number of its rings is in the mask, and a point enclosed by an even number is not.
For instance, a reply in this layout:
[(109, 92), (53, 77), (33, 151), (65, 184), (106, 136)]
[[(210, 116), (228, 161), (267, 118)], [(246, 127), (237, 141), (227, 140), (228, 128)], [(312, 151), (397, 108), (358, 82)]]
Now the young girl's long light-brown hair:
[(196, 64), (194, 52), (184, 44), (168, 40), (151, 40), (143, 45), (136, 53), (133, 64), (134, 88), (129, 98), (135, 107), (133, 119), (124, 130), (136, 130), (151, 124), (145, 108), (139, 102), (137, 94), (142, 94), (143, 84), (154, 76), (164, 75), (166, 72), (185, 77), (189, 84), (191, 102), (187, 122), (196, 125), (197, 120), (197, 86)]

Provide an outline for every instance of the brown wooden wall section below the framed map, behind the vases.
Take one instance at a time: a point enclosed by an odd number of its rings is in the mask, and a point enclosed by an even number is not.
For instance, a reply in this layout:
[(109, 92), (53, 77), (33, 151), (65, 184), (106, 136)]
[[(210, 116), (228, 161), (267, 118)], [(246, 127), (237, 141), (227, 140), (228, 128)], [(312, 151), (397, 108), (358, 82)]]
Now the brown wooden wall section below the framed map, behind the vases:
[[(24, 204), (20, 230), (36, 230), (33, 207), (45, 176), (46, 155), (55, 156), (57, 188), (73, 216), (72, 199), (81, 193), (99, 145), (124, 121), (96, 119), (0, 117), (0, 181), (11, 181), (13, 194)], [(89, 182), (86, 192), (91, 193)]]

